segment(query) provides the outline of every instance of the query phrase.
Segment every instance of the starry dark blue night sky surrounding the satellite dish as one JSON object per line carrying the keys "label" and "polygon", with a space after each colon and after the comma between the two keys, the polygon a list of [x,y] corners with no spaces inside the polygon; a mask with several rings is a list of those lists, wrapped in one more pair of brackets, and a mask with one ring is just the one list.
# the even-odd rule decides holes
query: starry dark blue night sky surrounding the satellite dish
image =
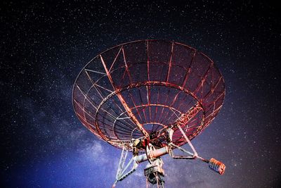
{"label": "starry dark blue night sky surrounding the satellite dish", "polygon": [[[137,39],[203,51],[226,82],[223,108],[192,140],[226,173],[164,156],[166,187],[278,187],[280,9],[270,1],[1,1],[1,187],[112,185],[121,151],[81,125],[72,85],[96,54]],[[145,187],[144,165],[117,187]]]}

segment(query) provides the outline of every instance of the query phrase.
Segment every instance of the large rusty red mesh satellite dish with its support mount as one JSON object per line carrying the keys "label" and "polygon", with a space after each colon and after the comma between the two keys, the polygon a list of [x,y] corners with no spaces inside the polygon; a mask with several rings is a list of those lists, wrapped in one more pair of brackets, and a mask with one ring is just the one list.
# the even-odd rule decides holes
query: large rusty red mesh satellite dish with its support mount
{"label": "large rusty red mesh satellite dish with its support mount", "polygon": [[[161,187],[160,156],[166,153],[200,158],[224,172],[223,163],[198,156],[190,140],[214,120],[225,93],[221,73],[202,52],[178,42],[141,40],[107,49],[86,64],[74,83],[73,105],[84,126],[122,149],[115,184],[149,161],[145,176]],[[181,147],[187,143],[193,152]],[[188,156],[174,156],[173,149]],[[133,168],[126,172],[128,151]]]}

